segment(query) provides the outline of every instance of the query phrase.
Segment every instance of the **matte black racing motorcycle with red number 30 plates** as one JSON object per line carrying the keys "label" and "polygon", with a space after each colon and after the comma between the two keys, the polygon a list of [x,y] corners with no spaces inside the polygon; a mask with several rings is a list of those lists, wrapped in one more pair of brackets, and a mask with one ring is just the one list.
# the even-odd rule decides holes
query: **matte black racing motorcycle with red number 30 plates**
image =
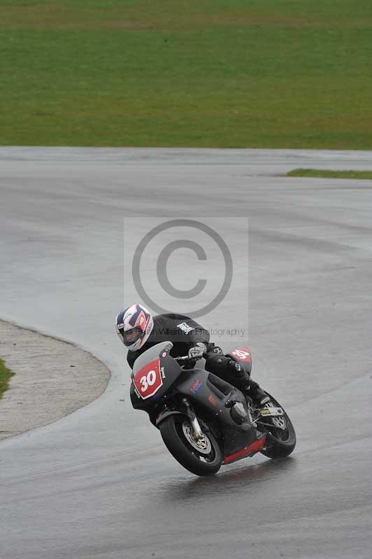
{"label": "matte black racing motorcycle with red number 30 plates", "polygon": [[[131,404],[148,413],[166,448],[186,470],[206,476],[257,452],[282,458],[294,450],[294,427],[273,396],[257,409],[235,386],[195,368],[194,357],[173,358],[172,347],[162,342],[136,359]],[[248,347],[236,347],[230,355],[250,373]]]}

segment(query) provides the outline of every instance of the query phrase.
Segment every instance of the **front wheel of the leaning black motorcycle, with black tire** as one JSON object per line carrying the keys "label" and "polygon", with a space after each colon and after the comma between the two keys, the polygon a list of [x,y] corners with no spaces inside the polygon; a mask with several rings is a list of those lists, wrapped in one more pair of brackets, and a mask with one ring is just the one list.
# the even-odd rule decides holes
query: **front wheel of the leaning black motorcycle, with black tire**
{"label": "front wheel of the leaning black motorcycle, with black tire", "polygon": [[202,440],[193,436],[189,418],[174,414],[166,417],[159,425],[166,448],[173,458],[196,476],[213,475],[222,465],[222,451],[212,433],[203,433]]}

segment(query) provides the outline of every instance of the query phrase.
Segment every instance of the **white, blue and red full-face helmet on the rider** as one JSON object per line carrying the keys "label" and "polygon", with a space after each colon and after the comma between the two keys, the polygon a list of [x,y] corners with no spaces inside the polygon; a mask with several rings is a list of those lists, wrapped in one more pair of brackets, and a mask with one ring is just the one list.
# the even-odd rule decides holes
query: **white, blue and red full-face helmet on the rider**
{"label": "white, blue and red full-face helmet on the rider", "polygon": [[140,349],[154,328],[150,311],[134,303],[122,310],[116,317],[116,332],[125,347],[131,351]]}

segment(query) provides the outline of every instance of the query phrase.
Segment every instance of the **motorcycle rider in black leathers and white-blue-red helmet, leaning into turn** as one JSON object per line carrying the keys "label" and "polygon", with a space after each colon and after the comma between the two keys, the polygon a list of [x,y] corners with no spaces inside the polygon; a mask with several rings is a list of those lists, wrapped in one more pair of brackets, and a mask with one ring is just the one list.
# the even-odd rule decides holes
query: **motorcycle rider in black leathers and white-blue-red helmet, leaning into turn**
{"label": "motorcycle rider in black leathers and white-blue-red helmet, leaning into turn", "polygon": [[196,359],[205,357],[206,370],[233,384],[245,395],[250,395],[255,405],[262,407],[270,400],[234,358],[224,356],[220,347],[209,343],[208,331],[185,314],[157,314],[152,317],[143,305],[135,303],[117,314],[116,331],[129,349],[127,361],[131,368],[146,349],[161,342],[172,342],[172,357],[186,354]]}

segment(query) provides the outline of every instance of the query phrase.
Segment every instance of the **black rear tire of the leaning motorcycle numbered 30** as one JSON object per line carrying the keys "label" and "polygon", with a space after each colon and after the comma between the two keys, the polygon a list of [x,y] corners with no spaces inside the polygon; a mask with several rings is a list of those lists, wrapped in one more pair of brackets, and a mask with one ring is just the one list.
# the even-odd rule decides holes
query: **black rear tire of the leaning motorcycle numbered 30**
{"label": "black rear tire of the leaning motorcycle numbered 30", "polygon": [[[289,456],[290,453],[294,451],[294,447],[296,447],[296,432],[294,430],[294,426],[292,425],[292,421],[287,416],[285,409],[280,405],[280,403],[270,395],[270,400],[275,407],[281,407],[284,416],[283,419],[285,420],[285,430],[282,430],[275,426],[273,423],[273,419],[271,418],[270,421],[273,423],[273,427],[269,428],[266,427],[266,430],[269,432],[266,440],[266,446],[261,451],[264,456],[268,458],[285,458],[285,456]],[[265,422],[268,419],[265,419]]]}

